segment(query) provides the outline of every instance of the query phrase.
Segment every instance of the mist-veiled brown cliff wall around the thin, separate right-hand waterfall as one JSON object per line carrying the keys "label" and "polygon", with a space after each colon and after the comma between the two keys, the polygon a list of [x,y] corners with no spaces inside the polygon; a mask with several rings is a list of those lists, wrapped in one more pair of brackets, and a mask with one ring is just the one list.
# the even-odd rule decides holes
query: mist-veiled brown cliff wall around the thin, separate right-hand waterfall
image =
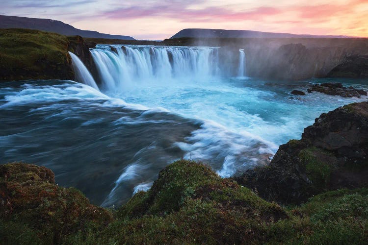
{"label": "mist-veiled brown cliff wall around the thin, separate right-hand waterfall", "polygon": [[221,47],[223,66],[235,74],[239,49],[246,74],[271,80],[311,77],[368,77],[366,38],[179,38],[166,45]]}

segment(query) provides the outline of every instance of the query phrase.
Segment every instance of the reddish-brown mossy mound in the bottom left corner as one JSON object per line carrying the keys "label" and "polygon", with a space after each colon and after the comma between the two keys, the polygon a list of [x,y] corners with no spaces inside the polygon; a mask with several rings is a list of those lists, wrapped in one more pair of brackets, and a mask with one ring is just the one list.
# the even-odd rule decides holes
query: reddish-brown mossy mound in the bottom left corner
{"label": "reddish-brown mossy mound in the bottom left corner", "polygon": [[0,226],[2,244],[59,243],[66,236],[98,229],[112,221],[110,212],[91,205],[74,188],[55,185],[54,174],[45,167],[12,163],[0,165]]}

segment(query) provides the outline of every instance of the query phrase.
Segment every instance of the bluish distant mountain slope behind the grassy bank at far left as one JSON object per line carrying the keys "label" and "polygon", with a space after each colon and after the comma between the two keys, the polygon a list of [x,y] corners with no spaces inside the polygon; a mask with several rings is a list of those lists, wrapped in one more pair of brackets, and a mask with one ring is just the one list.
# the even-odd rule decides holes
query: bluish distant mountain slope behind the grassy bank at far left
{"label": "bluish distant mountain slope behind the grassy bank at far left", "polygon": [[121,40],[135,40],[130,36],[122,35],[110,35],[100,33],[97,31],[80,30],[72,25],[65,24],[61,21],[50,19],[37,19],[18,16],[6,16],[0,15],[0,28],[26,28],[36,29],[49,32],[59,33],[66,36],[79,35],[87,38],[108,38],[108,39],[121,39]]}

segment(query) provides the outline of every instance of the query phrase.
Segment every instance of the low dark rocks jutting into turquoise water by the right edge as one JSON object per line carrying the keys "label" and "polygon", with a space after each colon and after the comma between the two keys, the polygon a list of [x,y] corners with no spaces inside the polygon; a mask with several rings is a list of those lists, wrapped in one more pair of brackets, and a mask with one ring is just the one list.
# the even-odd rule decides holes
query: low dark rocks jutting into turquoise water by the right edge
{"label": "low dark rocks jutting into turquoise water by the right edge", "polygon": [[367,92],[362,89],[355,89],[353,87],[343,87],[342,83],[322,83],[315,84],[308,88],[308,92],[319,92],[326,95],[338,95],[341,97],[357,97],[360,98],[362,95],[367,95]]}

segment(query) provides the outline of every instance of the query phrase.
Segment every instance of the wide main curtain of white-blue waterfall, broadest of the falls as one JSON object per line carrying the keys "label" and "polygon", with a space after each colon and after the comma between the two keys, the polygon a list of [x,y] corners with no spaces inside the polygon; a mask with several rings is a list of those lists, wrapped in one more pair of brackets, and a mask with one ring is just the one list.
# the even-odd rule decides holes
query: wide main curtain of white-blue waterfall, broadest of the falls
{"label": "wide main curtain of white-blue waterfall, broadest of the falls", "polygon": [[147,83],[196,82],[219,74],[218,48],[106,45],[91,49],[106,90]]}

